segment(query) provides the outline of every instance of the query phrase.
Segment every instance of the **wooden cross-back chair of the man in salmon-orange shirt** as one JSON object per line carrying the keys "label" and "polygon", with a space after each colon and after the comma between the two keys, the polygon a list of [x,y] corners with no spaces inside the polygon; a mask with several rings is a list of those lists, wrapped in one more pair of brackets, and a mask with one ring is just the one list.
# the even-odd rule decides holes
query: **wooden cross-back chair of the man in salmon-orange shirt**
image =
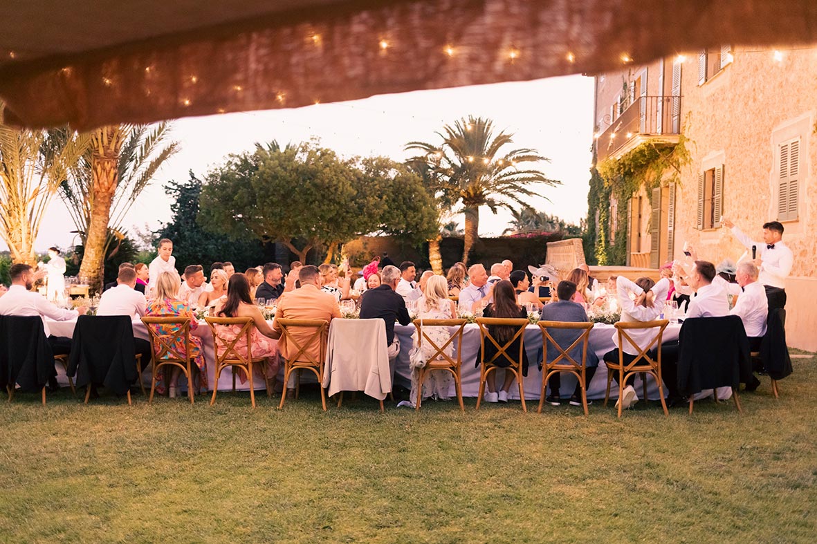
{"label": "wooden cross-back chair of the man in salmon-orange shirt", "polygon": [[[329,322],[326,319],[275,319],[281,327],[283,337],[287,340],[288,353],[295,352],[294,355],[285,359],[283,366],[283,388],[281,393],[281,404],[278,408],[283,408],[283,403],[287,398],[286,388],[289,382],[289,375],[293,370],[303,372],[304,369],[315,372],[318,377],[318,387],[320,389],[320,402],[324,406],[326,412],[326,391],[324,391],[324,365],[326,363],[326,345],[328,341]],[[312,329],[312,334],[306,341],[298,341],[296,337],[292,336],[292,329]],[[307,350],[313,346],[315,342],[319,346],[319,355],[314,359]],[[297,391],[296,391],[297,399]]]}

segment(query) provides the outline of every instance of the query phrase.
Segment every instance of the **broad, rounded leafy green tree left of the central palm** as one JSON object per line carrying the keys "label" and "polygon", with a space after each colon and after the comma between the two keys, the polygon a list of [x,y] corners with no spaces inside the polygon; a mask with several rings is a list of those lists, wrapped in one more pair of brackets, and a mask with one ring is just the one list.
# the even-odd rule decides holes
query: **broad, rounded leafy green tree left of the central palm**
{"label": "broad, rounded leafy green tree left of the central palm", "polygon": [[363,234],[422,235],[415,221],[425,216],[416,204],[385,215],[391,200],[425,194],[417,192],[422,187],[400,165],[373,158],[357,167],[356,160],[343,160],[313,143],[284,149],[273,144],[230,155],[208,174],[199,212],[205,228],[234,239],[249,233],[261,241],[279,241],[304,262],[319,245],[328,247],[331,260],[337,246]]}

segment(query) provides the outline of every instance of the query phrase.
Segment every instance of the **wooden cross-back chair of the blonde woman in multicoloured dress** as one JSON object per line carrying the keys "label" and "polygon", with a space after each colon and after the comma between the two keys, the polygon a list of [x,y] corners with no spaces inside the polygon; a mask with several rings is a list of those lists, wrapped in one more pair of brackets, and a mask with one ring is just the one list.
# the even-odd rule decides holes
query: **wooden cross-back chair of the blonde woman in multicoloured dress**
{"label": "wooden cross-back chair of the blonde woman in multicoloured dress", "polygon": [[[148,403],[153,402],[153,395],[158,381],[158,369],[162,367],[178,367],[187,377],[187,396],[190,397],[190,404],[194,403],[193,396],[193,368],[191,368],[190,354],[193,346],[190,343],[190,318],[179,316],[167,317],[143,317],[142,323],[148,329],[150,335],[150,398]],[[179,330],[172,334],[159,334],[151,325],[177,325]],[[181,338],[185,346],[185,353],[179,353],[172,346],[176,338]],[[157,353],[158,351],[158,353]],[[172,373],[172,372],[171,372]],[[167,386],[170,387],[170,376],[167,377]]]}

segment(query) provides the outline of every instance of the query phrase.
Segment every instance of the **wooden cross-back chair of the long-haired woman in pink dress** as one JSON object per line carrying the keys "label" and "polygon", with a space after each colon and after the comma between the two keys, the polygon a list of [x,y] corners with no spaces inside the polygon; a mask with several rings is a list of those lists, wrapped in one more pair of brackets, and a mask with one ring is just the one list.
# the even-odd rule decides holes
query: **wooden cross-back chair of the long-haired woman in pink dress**
{"label": "wooden cross-back chair of the long-haired woman in pink dress", "polygon": [[[272,390],[270,388],[270,378],[267,376],[270,361],[266,357],[252,356],[252,327],[254,326],[252,318],[220,318],[206,316],[204,320],[207,321],[208,325],[210,326],[210,330],[212,330],[212,339],[216,350],[216,381],[215,386],[212,388],[212,399],[210,399],[210,406],[216,404],[218,378],[221,377],[221,371],[227,367],[231,367],[233,369],[233,392],[235,392],[235,370],[236,368],[240,368],[244,372],[244,375],[247,377],[247,381],[249,382],[250,403],[252,404],[252,408],[255,408],[255,387],[252,385],[252,365],[256,363],[263,365],[266,396],[267,398],[270,398],[272,396]],[[221,327],[231,327],[233,325],[240,325],[241,330],[239,330],[239,333],[235,335],[232,340],[228,340],[219,335]],[[239,350],[235,349],[235,345],[242,338],[246,341],[246,356]],[[219,354],[219,349],[221,346],[224,347],[224,350],[223,353]]]}

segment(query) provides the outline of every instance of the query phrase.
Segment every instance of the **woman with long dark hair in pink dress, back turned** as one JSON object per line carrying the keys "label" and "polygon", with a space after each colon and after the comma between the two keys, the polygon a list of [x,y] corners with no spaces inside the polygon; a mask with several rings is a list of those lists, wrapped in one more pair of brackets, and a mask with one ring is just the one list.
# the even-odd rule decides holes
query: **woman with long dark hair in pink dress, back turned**
{"label": "woman with long dark hair in pink dress, back turned", "polygon": [[[254,269],[253,269],[254,270]],[[217,275],[221,272],[217,270]],[[226,275],[226,273],[224,274]],[[213,312],[217,317],[225,318],[250,318],[252,319],[252,328],[250,330],[250,341],[252,342],[252,357],[268,357],[270,359],[267,364],[267,377],[274,377],[278,374],[278,342],[274,339],[279,337],[270,324],[264,319],[261,310],[252,302],[250,297],[250,283],[247,276],[244,274],[233,274],[229,281],[229,288],[227,289],[227,296],[218,299],[216,303],[216,310]],[[241,331],[241,325],[216,325],[218,335],[227,342],[234,341]],[[218,342],[218,355],[224,354],[225,345]],[[233,346],[243,357],[248,357],[247,337],[241,336],[236,340]],[[260,367],[256,367],[260,371]],[[246,375],[239,372],[239,379],[241,383],[247,381]],[[259,374],[259,377],[262,377]]]}

